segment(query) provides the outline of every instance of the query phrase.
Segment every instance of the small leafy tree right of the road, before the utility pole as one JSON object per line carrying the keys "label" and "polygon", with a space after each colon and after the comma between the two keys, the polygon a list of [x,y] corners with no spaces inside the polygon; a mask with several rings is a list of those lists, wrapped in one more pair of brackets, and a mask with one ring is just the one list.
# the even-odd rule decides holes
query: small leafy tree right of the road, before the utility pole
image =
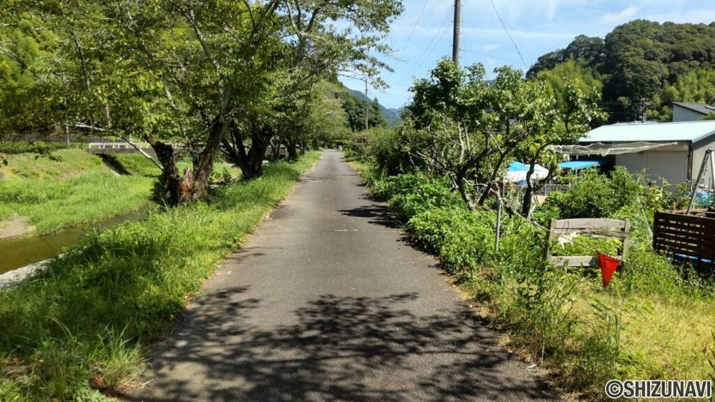
{"label": "small leafy tree right of the road, before the utility pole", "polygon": [[544,75],[523,79],[511,67],[495,69],[488,83],[484,67],[460,69],[441,60],[428,79],[410,89],[400,141],[423,167],[450,179],[470,209],[483,205],[491,187],[512,157],[530,162],[523,210],[531,209],[533,165],[546,159],[556,170],[549,145],[573,143],[601,117],[591,88],[576,80],[563,85],[561,107]]}

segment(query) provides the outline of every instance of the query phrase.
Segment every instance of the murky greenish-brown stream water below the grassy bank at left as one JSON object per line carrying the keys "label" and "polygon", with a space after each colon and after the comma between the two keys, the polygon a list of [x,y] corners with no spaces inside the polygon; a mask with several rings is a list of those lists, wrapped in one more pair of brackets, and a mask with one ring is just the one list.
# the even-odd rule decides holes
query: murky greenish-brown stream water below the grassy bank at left
{"label": "murky greenish-brown stream water below the grassy bank at left", "polygon": [[130,212],[126,215],[109,217],[102,222],[70,227],[44,236],[15,236],[0,239],[0,274],[39,263],[61,253],[64,247],[74,245],[80,236],[94,229],[117,225],[125,220],[134,220],[144,215],[146,210]]}

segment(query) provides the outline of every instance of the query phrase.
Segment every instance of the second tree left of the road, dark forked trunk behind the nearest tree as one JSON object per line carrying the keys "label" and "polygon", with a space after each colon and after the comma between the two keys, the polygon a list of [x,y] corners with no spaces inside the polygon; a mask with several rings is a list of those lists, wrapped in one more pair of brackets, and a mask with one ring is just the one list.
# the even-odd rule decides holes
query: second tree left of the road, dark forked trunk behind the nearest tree
{"label": "second tree left of the road, dark forked trunk behind the nearest tree", "polygon": [[[292,77],[290,85],[280,92],[282,102],[275,102],[270,114],[284,114],[287,109],[307,102],[312,85],[326,74],[338,71],[352,71],[363,74],[375,85],[380,85],[378,69],[389,67],[376,59],[372,53],[388,52],[383,44],[389,24],[402,10],[398,0],[350,0],[350,1],[287,1],[284,20],[290,42],[282,64],[276,67]],[[336,24],[347,25],[338,29]],[[358,28],[360,33],[355,33]],[[300,99],[300,100],[299,100]],[[256,113],[250,108],[242,109],[252,115],[256,123]],[[294,111],[293,115],[300,114]],[[266,118],[259,124],[235,125],[232,137],[225,141],[232,148],[232,155],[242,168],[244,177],[260,175],[262,159],[271,137],[277,135],[277,126]],[[243,142],[250,138],[247,149]],[[294,141],[285,136],[288,146]]]}

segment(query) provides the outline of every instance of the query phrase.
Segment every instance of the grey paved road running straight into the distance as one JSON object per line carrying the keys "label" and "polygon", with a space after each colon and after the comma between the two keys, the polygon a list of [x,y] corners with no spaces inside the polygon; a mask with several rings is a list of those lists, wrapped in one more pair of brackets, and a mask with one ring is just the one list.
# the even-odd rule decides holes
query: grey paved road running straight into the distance
{"label": "grey paved road running straight into the distance", "polygon": [[327,151],[177,320],[131,401],[554,399]]}

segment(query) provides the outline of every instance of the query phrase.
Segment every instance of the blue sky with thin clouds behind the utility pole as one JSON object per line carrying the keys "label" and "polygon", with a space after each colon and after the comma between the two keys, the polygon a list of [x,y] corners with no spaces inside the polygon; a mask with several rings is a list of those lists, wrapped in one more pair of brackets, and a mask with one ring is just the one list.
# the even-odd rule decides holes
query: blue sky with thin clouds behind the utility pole
{"label": "blue sky with thin clouds behind the utility pole", "polygon": [[[490,0],[462,1],[460,64],[481,62],[490,74],[505,64],[526,72],[539,56],[566,47],[574,36],[603,37],[615,26],[633,19],[706,24],[715,21],[715,4],[711,0],[493,0],[525,66]],[[413,77],[426,77],[438,59],[452,57],[454,1],[403,0],[403,4],[405,12],[395,20],[387,39],[394,54],[383,58],[395,70],[382,74],[390,87],[379,92],[370,88],[370,98],[378,97],[388,108],[399,108],[409,101]],[[365,90],[362,81],[340,80],[347,87]]]}

